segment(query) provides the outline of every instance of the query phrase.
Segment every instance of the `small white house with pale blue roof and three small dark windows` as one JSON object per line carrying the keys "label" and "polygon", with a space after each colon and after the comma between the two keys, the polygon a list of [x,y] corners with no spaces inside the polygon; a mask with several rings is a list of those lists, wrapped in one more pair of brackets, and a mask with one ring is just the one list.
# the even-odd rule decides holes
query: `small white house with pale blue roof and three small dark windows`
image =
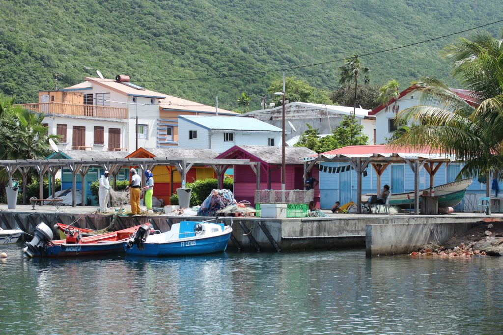
{"label": "small white house with pale blue roof and three small dark windows", "polygon": [[235,116],[178,117],[180,148],[212,149],[218,153],[234,145],[281,145],[281,128],[257,119]]}

